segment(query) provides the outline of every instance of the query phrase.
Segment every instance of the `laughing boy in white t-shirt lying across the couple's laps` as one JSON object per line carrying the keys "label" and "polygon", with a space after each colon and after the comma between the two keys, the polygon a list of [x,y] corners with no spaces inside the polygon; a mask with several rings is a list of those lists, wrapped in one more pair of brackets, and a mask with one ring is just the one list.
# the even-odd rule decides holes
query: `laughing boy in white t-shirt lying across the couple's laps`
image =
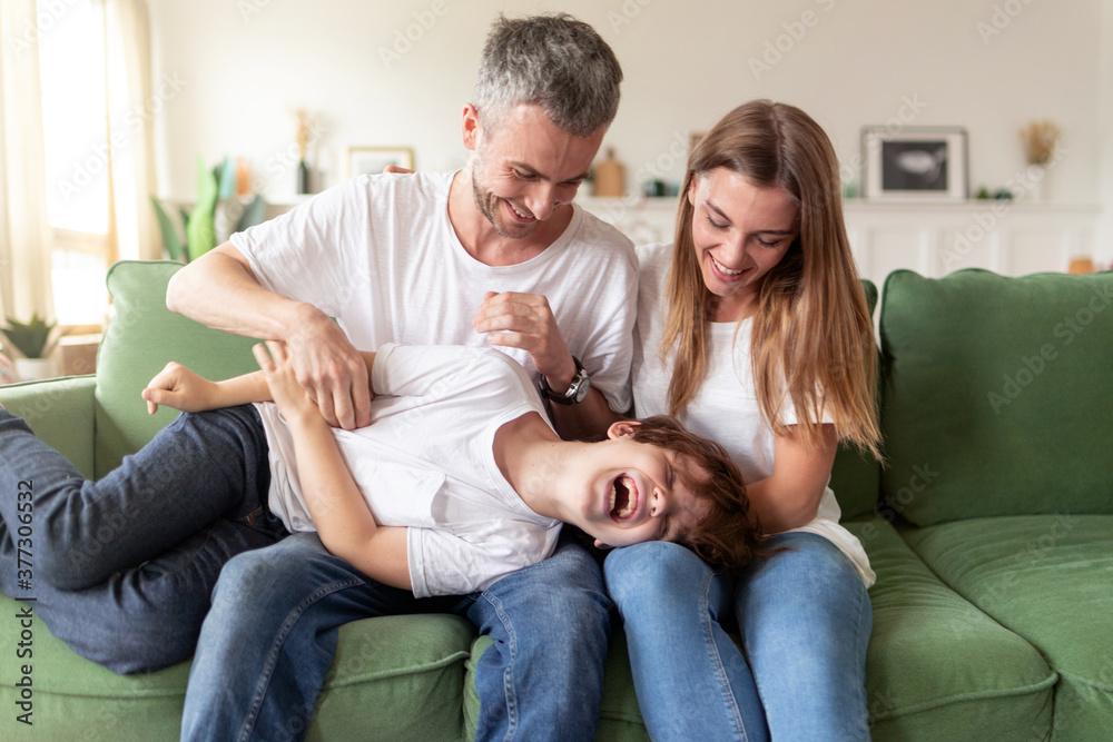
{"label": "laughing boy in white t-shirt lying across the couple's laps", "polygon": [[[267,348],[255,347],[260,372],[226,382],[167,366],[142,393],[149,410],[203,414],[180,416],[99,483],[76,477],[0,413],[4,475],[36,478],[40,580],[88,587],[213,518],[259,520],[263,493],[286,531],[316,530],[334,555],[418,597],[481,591],[545,558],[561,522],[601,547],[669,540],[720,565],[749,560],[757,527],[741,475],[671,418],[617,423],[598,443],[563,442],[508,356],[390,344],[364,354],[372,424],[343,431],[295,380],[284,346]],[[220,432],[206,433],[206,416],[221,416]],[[243,455],[228,463],[237,447]],[[188,465],[174,466],[179,453]],[[37,471],[12,472],[19,462]],[[72,558],[114,517],[130,525],[98,558]]]}

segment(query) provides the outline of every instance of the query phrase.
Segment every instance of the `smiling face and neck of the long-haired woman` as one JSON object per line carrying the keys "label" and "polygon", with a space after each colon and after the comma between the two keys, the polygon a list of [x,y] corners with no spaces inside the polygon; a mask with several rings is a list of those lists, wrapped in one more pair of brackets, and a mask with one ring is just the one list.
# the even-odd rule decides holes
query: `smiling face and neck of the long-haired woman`
{"label": "smiling face and neck of the long-haired woman", "polygon": [[757,281],[780,263],[800,234],[799,209],[785,190],[758,187],[727,168],[697,176],[692,239],[703,284],[718,301],[713,321],[754,314]]}

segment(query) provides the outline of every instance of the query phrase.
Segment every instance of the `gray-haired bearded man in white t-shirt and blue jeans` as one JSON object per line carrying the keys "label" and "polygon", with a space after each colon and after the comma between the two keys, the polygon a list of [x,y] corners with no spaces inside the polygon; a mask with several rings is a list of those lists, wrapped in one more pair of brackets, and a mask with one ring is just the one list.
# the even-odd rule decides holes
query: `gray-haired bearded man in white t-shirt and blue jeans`
{"label": "gray-haired bearded man in white t-shirt and blue jeans", "polygon": [[[570,201],[621,78],[585,23],[501,19],[463,111],[464,170],[338,186],[190,264],[167,305],[283,340],[333,425],[370,418],[357,348],[490,343],[535,376],[562,436],[601,433],[630,406],[637,265],[628,239]],[[476,667],[476,739],[594,738],[609,605],[595,562],[572,542],[460,596],[452,610],[494,640]],[[314,706],[336,627],[422,610],[433,607],[370,580],[314,534],[236,556],[201,629],[183,736],[296,736],[285,720]]]}

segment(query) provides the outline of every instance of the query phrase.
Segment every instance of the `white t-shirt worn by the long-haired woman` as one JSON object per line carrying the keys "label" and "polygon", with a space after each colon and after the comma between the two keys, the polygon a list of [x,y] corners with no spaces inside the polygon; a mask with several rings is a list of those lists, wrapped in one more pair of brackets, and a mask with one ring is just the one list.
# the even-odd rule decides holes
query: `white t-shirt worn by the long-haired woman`
{"label": "white t-shirt worn by the long-haired woman", "polygon": [[[649,245],[638,248],[641,281],[638,293],[638,327],[634,337],[633,397],[638,417],[663,415],[669,412],[669,382],[672,378],[674,352],[667,360],[660,356],[664,336],[666,280],[672,260],[671,245]],[[750,366],[750,329],[752,318],[738,323],[711,323],[708,337],[708,375],[696,397],[680,416],[693,433],[718,441],[738,464],[747,482],[757,482],[772,474],[776,436],[762,422],[754,374]],[[791,399],[780,409],[787,425],[797,422]],[[824,422],[830,422],[826,419]],[[858,568],[866,587],[875,575],[869,558],[857,538],[838,524],[838,502],[830,487],[824,491],[816,518],[799,528],[834,543]]]}

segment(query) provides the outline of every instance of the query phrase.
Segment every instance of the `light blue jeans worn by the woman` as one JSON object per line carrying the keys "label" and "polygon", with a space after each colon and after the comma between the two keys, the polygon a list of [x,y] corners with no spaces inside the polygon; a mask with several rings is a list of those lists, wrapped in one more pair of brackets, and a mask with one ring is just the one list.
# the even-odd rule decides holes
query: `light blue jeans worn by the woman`
{"label": "light blue jeans worn by the woman", "polygon": [[[737,586],[674,544],[608,555],[654,740],[869,739],[873,610],[861,578],[821,536],[785,533],[769,546],[792,551],[756,560]],[[745,659],[723,632],[731,609]]]}

